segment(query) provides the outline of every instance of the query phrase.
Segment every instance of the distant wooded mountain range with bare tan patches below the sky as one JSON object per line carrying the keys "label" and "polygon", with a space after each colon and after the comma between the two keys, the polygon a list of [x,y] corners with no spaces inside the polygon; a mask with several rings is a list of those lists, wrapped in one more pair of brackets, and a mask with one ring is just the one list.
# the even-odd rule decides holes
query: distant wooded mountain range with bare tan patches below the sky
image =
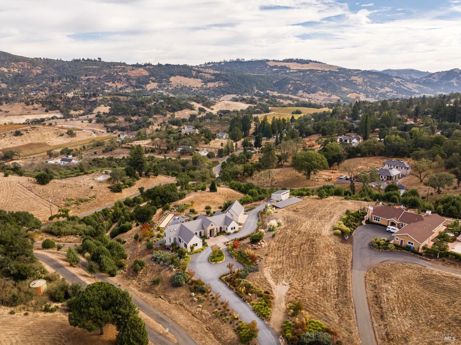
{"label": "distant wooded mountain range with bare tan patches below the sky", "polygon": [[[80,88],[176,95],[271,92],[319,102],[461,92],[461,71],[354,70],[319,61],[244,60],[186,64],[125,64],[95,58],[64,61],[0,52],[0,94],[67,92]],[[3,91],[2,91],[3,88]]]}

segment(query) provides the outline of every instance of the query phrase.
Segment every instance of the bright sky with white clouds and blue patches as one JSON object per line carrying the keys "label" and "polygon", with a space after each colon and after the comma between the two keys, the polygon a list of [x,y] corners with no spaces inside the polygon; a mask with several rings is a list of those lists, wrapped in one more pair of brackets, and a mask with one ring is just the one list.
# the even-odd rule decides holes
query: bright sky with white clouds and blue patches
{"label": "bright sky with white clouds and blue patches", "polygon": [[461,68],[461,0],[14,0],[0,23],[0,50],[27,57]]}

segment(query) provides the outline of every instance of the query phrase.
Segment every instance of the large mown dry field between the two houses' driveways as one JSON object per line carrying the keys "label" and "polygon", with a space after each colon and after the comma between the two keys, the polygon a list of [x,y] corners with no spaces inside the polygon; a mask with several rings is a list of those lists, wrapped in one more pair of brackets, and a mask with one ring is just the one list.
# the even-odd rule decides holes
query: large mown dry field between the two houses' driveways
{"label": "large mown dry field between the two houses' driveways", "polygon": [[312,197],[277,211],[271,217],[282,219],[284,225],[269,243],[261,272],[271,285],[280,286],[276,300],[288,285],[285,303],[300,298],[310,317],[336,330],[348,345],[360,343],[352,301],[352,241],[334,236],[332,226],[347,209],[365,204]]}

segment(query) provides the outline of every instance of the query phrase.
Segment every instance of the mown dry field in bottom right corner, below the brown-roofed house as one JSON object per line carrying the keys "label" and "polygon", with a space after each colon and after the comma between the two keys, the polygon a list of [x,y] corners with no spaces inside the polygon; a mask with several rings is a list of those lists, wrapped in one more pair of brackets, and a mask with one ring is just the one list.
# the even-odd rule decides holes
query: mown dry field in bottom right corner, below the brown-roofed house
{"label": "mown dry field in bottom right corner, below the brown-roofed house", "polygon": [[[378,344],[447,344],[436,332],[461,333],[461,278],[413,263],[381,263],[366,273]],[[416,293],[415,293],[416,288]],[[450,343],[450,342],[448,342]]]}

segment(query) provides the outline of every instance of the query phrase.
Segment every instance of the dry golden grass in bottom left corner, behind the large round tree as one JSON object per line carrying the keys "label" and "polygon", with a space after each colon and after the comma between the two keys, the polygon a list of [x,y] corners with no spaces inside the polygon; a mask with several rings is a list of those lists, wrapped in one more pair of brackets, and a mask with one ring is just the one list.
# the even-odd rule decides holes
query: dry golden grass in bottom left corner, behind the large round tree
{"label": "dry golden grass in bottom left corner, behind the large round tree", "polygon": [[114,326],[108,327],[106,333],[88,331],[72,327],[67,320],[67,313],[61,308],[54,313],[17,312],[10,315],[11,308],[0,307],[1,345],[115,345],[117,331]]}

